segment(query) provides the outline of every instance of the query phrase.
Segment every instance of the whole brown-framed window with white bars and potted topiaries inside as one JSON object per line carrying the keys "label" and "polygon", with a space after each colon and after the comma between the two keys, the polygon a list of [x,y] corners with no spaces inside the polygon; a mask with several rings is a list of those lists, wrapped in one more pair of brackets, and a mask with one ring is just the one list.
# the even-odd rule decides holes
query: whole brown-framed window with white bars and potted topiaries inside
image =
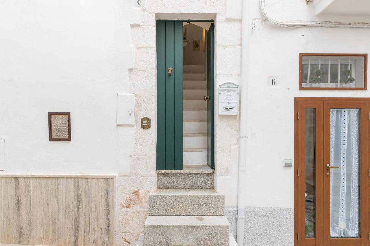
{"label": "whole brown-framed window with white bars and potted topiaries inside", "polygon": [[366,90],[367,54],[299,54],[300,90]]}

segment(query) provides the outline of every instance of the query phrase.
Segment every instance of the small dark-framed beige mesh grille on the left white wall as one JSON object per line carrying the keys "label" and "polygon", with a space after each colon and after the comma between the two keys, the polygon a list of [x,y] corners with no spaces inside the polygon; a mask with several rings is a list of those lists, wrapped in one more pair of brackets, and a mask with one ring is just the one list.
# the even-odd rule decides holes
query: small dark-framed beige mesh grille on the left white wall
{"label": "small dark-framed beige mesh grille on the left white wall", "polygon": [[71,141],[71,113],[48,112],[49,141]]}

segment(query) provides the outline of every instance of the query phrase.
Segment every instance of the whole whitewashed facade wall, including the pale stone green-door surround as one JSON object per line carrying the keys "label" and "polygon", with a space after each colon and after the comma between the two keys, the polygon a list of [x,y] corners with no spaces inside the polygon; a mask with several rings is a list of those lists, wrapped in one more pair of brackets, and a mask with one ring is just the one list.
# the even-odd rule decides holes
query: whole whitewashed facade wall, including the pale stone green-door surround
{"label": "whole whitewashed facade wall, including the pale stone green-door surround", "polygon": [[[0,174],[113,174],[117,243],[133,242],[155,189],[156,19],[215,19],[215,83],[240,84],[238,0],[4,0],[0,8]],[[266,0],[278,20],[314,17],[304,0]],[[194,14],[189,14],[194,13]],[[250,21],[261,18],[250,0]],[[260,20],[250,31],[246,206],[293,208],[294,97],[369,97],[368,91],[299,91],[299,53],[369,53],[369,29],[287,29]],[[190,44],[190,40],[189,40]],[[279,77],[279,88],[267,77]],[[135,127],[117,127],[116,93],[136,93]],[[236,206],[239,117],[218,115],[216,189]],[[47,112],[71,112],[71,142],[48,141]],[[139,119],[152,118],[143,130]],[[294,164],[294,163],[293,163]],[[126,240],[126,241],[125,241]],[[129,245],[129,243],[127,243]]]}

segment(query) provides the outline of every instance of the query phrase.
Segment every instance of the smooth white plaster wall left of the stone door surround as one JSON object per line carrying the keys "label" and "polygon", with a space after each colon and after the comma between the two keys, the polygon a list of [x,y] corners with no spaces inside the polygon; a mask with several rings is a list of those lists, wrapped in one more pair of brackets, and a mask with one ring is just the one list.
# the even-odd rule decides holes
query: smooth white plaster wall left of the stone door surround
{"label": "smooth white plaster wall left of the stone door surround", "polygon": [[[134,128],[115,127],[134,64],[128,4],[1,1],[0,173],[128,173]],[[48,141],[47,112],[71,112],[71,142]]]}

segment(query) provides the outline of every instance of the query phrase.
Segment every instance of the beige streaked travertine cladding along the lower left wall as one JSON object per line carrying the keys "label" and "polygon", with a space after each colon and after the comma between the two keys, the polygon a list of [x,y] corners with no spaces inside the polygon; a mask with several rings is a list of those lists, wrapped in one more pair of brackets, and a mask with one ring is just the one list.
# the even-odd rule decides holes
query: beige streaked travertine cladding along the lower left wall
{"label": "beige streaked travertine cladding along the lower left wall", "polygon": [[0,177],[0,243],[113,246],[114,179]]}

